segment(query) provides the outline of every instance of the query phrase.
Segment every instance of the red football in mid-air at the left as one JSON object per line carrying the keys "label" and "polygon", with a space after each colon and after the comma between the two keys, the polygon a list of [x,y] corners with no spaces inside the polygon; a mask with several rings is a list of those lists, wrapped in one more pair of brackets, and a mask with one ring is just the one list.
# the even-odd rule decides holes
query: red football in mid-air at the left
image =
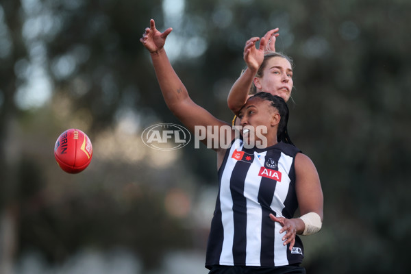
{"label": "red football in mid-air at the left", "polygon": [[67,129],[55,142],[54,157],[67,173],[84,171],[92,158],[90,139],[79,129]]}

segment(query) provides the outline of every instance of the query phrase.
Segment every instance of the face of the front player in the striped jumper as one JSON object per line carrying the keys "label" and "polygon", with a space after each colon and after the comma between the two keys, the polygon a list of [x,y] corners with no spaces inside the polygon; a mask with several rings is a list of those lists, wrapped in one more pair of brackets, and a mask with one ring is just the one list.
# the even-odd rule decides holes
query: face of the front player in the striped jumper
{"label": "face of the front player in the striped jumper", "polygon": [[[279,123],[279,113],[273,108],[271,102],[263,99],[249,99],[238,112],[240,125],[242,126],[242,136],[249,143],[265,141],[267,146],[277,143],[277,127]],[[247,127],[251,129],[247,131]],[[265,140],[262,140],[262,136]]]}

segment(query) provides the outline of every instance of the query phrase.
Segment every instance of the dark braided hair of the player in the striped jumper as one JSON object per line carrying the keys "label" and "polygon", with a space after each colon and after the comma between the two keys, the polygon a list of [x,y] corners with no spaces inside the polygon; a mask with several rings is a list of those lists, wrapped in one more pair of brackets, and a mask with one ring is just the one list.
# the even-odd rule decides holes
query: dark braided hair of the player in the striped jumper
{"label": "dark braided hair of the player in the striped jumper", "polygon": [[294,145],[291,142],[290,136],[288,136],[287,131],[287,124],[288,124],[288,105],[282,97],[277,95],[271,95],[268,92],[258,92],[256,95],[253,95],[249,99],[252,98],[260,98],[266,101],[270,101],[271,105],[276,108],[279,112],[279,116],[281,119],[279,120],[278,124],[278,131],[277,131],[277,141],[278,142],[285,142],[286,144]]}

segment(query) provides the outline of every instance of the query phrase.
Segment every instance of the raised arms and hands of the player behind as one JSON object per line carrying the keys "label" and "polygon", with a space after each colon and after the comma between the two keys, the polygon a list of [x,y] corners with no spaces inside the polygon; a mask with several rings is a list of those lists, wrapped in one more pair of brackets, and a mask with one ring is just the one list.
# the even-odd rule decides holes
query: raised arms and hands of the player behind
{"label": "raised arms and hands of the player behind", "polygon": [[[229,91],[227,98],[228,108],[238,114],[242,105],[248,99],[249,90],[253,84],[253,79],[256,76],[258,68],[264,60],[264,53],[268,51],[275,51],[275,40],[278,33],[278,28],[271,29],[264,37],[253,37],[249,39],[244,48],[244,60],[247,64],[247,69],[238,77],[237,81]],[[260,40],[260,47],[256,48],[256,42]]]}

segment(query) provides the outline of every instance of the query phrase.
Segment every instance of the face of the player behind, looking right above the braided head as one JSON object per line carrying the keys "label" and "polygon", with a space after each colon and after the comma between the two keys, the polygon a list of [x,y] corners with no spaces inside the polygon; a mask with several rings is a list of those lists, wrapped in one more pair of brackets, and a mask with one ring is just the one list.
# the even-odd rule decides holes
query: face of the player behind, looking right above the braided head
{"label": "face of the player behind, looking right above the braided head", "polygon": [[262,77],[255,77],[254,84],[258,92],[269,92],[272,95],[282,97],[284,101],[288,101],[293,84],[290,62],[279,56],[267,60]]}

